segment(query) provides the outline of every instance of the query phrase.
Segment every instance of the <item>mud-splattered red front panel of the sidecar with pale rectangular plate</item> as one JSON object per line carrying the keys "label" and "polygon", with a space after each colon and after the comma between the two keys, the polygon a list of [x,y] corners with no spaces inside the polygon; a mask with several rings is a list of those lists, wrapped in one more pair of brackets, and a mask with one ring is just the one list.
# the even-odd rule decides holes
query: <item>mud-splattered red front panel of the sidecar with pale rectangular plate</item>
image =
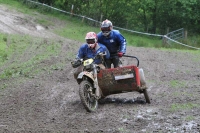
{"label": "mud-splattered red front panel of the sidecar with pale rectangular plate", "polygon": [[139,91],[139,69],[136,66],[124,66],[101,70],[98,73],[98,83],[103,96]]}

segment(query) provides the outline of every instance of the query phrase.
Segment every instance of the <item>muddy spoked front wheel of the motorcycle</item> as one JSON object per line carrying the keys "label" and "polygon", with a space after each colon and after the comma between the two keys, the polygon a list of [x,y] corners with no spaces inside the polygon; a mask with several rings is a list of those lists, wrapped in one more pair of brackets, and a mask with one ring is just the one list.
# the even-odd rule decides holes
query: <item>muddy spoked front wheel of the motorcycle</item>
{"label": "muddy spoked front wheel of the motorcycle", "polygon": [[[79,87],[79,95],[83,106],[88,112],[96,111],[98,107],[98,100],[91,95],[93,93],[93,86],[87,80],[82,81]],[[92,91],[92,92],[91,92]]]}

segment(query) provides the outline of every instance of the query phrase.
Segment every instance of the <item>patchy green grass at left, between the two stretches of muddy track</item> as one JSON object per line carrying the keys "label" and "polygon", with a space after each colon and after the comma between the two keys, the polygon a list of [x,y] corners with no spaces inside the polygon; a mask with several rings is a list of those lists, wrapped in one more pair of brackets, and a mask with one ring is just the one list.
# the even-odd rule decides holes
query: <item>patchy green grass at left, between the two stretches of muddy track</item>
{"label": "patchy green grass at left, between the two stretches of muddy track", "polygon": [[[4,68],[0,72],[0,79],[8,79],[11,77],[32,77],[40,74],[42,71],[55,69],[52,66],[47,66],[45,69],[39,67],[42,61],[51,60],[51,57],[56,57],[60,53],[61,44],[49,40],[46,42],[42,38],[33,38],[20,35],[3,35],[7,40],[7,47],[1,43],[0,48],[4,49],[6,59],[1,58],[1,66]],[[21,60],[23,59],[23,60]],[[6,64],[6,66],[4,66]],[[57,69],[64,65],[57,65]]]}

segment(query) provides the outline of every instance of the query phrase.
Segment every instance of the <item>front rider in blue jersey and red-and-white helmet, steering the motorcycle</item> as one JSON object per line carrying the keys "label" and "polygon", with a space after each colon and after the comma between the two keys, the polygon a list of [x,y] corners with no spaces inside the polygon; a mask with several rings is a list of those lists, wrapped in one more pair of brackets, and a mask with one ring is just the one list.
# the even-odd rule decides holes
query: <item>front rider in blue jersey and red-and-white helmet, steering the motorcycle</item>
{"label": "front rider in blue jersey and red-and-white helmet, steering the motorcycle", "polygon": [[[85,37],[86,43],[81,45],[76,59],[89,59],[95,57],[98,53],[104,53],[105,59],[110,58],[110,53],[108,49],[101,43],[97,42],[97,35],[94,32],[88,32]],[[105,66],[101,64],[100,59],[95,59],[94,62],[98,64],[102,69],[105,69]],[[77,79],[78,74],[82,71],[83,65],[79,66],[74,73],[74,78]]]}

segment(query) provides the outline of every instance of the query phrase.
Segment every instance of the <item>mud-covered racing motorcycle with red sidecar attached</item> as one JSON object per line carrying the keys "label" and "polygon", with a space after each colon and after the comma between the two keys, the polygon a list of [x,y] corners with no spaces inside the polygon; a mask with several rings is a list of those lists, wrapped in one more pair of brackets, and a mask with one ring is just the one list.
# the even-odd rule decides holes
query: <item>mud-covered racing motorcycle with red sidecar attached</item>
{"label": "mud-covered racing motorcycle with red sidecar attached", "polygon": [[[95,58],[101,58],[103,54]],[[94,63],[94,59],[71,62],[74,68],[83,65],[83,71],[78,75],[79,95],[81,102],[88,112],[96,111],[98,101],[112,94],[137,91],[143,93],[146,103],[150,103],[145,82],[144,72],[139,67],[139,60],[135,56],[124,55],[137,60],[137,65],[118,68],[101,69]],[[78,64],[78,65],[77,65]]]}

